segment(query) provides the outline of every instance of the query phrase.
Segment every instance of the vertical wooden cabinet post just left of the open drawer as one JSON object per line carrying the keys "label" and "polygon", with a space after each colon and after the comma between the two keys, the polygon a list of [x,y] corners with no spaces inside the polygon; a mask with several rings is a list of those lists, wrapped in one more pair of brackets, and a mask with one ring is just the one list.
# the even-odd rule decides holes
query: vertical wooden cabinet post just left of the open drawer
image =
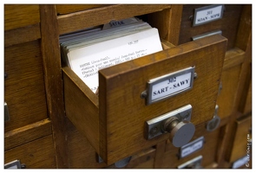
{"label": "vertical wooden cabinet post just left of the open drawer", "polygon": [[44,86],[52,121],[57,168],[67,168],[67,130],[62,93],[61,53],[55,5],[40,5]]}

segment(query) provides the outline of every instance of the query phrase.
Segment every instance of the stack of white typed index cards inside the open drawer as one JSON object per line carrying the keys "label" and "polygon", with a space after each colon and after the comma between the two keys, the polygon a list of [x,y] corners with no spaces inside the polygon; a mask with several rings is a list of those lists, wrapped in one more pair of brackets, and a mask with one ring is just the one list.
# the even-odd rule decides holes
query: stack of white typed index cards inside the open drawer
{"label": "stack of white typed index cards inside the open drawer", "polygon": [[98,71],[161,51],[158,30],[134,18],[60,37],[62,60],[95,93]]}

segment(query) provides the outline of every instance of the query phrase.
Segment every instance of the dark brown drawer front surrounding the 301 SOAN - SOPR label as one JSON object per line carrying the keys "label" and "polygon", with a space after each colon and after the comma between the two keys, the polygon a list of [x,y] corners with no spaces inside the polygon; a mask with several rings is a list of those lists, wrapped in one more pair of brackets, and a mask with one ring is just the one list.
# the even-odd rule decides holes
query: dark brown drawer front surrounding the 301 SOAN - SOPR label
{"label": "dark brown drawer front surrounding the 301 SOAN - SOPR label", "polygon": [[225,9],[221,19],[193,27],[194,10],[205,6],[207,5],[183,5],[179,44],[192,41],[192,37],[194,36],[203,35],[220,29],[222,31],[222,35],[228,40],[227,49],[234,48],[240,23],[242,5],[225,4]]}

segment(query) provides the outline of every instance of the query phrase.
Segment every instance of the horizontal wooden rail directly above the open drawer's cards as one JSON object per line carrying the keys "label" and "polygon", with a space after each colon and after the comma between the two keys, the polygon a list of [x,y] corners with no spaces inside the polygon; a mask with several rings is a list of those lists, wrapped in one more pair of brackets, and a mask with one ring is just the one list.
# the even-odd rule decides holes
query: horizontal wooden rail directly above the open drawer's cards
{"label": "horizontal wooden rail directly above the open drawer's cards", "polygon": [[134,5],[120,4],[84,10],[68,15],[58,16],[59,34],[74,32],[92,26],[101,25],[111,20],[121,20],[128,17],[140,16],[157,10],[170,8],[171,5]]}

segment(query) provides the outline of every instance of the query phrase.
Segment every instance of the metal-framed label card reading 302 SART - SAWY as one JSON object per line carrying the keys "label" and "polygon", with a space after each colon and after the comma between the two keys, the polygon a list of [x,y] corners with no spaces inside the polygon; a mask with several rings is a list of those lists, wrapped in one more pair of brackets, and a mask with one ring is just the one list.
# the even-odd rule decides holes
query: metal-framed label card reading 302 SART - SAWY
{"label": "metal-framed label card reading 302 SART - SAWY", "polygon": [[148,81],[147,101],[150,105],[162,99],[173,97],[193,87],[194,67],[187,67],[172,74]]}

